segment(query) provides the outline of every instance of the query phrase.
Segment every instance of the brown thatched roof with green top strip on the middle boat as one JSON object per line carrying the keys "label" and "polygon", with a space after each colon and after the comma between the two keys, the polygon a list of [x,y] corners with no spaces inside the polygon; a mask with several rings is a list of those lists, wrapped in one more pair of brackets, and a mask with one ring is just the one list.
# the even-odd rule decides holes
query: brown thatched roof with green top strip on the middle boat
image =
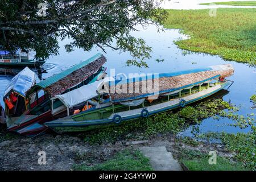
{"label": "brown thatched roof with green top strip on the middle boat", "polygon": [[80,64],[39,82],[32,90],[40,88],[45,90],[51,97],[56,96],[86,80],[97,72],[105,62],[106,58],[101,54],[97,54]]}

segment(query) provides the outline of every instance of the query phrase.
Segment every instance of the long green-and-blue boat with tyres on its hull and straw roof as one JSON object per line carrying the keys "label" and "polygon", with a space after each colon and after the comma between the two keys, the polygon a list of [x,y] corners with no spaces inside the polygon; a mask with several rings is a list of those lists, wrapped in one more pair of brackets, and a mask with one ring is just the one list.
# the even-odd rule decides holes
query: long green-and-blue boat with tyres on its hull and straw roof
{"label": "long green-and-blue boat with tyres on its hull and straw roof", "polygon": [[[53,97],[52,114],[55,115],[56,110],[65,107],[67,117],[46,122],[44,125],[63,133],[92,130],[100,126],[117,125],[130,119],[146,118],[152,114],[184,107],[217,93],[232,83],[225,80],[225,77],[233,75],[233,72],[232,65],[228,64],[162,73],[157,77],[110,77],[108,80],[94,82]],[[150,82],[154,89],[146,86]],[[135,85],[138,92],[135,92]],[[146,92],[142,92],[143,88],[147,88]],[[80,95],[79,99],[77,94]],[[59,101],[62,105],[55,107],[54,103]],[[84,107],[87,110],[82,111]]]}

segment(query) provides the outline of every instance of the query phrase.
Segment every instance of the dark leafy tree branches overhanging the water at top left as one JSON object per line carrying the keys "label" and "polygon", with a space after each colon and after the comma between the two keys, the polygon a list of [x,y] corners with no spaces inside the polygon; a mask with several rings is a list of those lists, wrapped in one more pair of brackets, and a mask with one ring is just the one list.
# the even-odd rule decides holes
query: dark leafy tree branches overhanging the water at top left
{"label": "dark leafy tree branches overhanging the water at top left", "polygon": [[71,38],[67,51],[111,47],[131,53],[134,59],[127,64],[146,66],[151,48],[130,32],[137,24],[158,26],[166,18],[155,0],[0,0],[0,4],[0,48],[31,48],[43,59],[58,54],[59,39]]}

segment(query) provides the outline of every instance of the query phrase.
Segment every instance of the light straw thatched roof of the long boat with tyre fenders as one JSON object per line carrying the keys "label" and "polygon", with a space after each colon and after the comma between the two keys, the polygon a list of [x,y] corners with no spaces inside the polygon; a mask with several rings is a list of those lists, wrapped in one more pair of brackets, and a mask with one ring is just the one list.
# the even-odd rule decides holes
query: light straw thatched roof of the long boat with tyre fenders
{"label": "light straw thatched roof of the long boat with tyre fenders", "polygon": [[[213,80],[218,77],[228,77],[233,75],[234,69],[231,65],[221,65],[222,68],[214,66],[209,71],[199,71],[186,74],[175,74],[168,77],[167,73],[161,74],[159,78],[152,80],[142,80],[137,82],[127,82],[125,84],[116,84],[109,86],[110,97],[112,102],[123,102],[138,98],[145,98],[154,95],[156,92],[167,93],[177,89],[196,85],[207,80]],[[225,67],[224,67],[225,66]],[[184,73],[184,72],[181,72]],[[149,86],[147,86],[147,84]],[[137,86],[137,87],[135,87]],[[129,88],[131,88],[129,90]],[[135,88],[139,88],[135,90]],[[113,93],[113,90],[115,92]]]}

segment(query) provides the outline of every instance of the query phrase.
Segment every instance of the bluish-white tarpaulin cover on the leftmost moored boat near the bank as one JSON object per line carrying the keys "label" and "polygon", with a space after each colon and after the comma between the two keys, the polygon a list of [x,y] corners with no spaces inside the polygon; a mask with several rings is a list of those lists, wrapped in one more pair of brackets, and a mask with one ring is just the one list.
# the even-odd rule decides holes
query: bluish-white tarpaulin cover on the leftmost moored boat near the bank
{"label": "bluish-white tarpaulin cover on the leftmost moored boat near the bank", "polygon": [[27,91],[35,84],[35,73],[32,72],[28,67],[24,68],[18,73],[10,83],[6,86],[5,94],[3,98],[7,97],[8,94],[14,90],[19,93],[20,96],[26,97]]}

